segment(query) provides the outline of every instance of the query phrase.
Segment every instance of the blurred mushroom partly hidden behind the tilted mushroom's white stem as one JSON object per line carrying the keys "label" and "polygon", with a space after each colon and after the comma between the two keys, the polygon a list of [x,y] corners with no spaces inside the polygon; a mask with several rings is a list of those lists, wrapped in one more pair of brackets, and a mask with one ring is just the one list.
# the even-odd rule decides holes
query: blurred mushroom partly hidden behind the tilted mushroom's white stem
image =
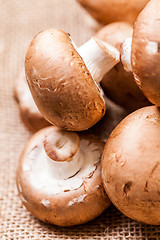
{"label": "blurred mushroom partly hidden behind the tilted mushroom's white stem", "polygon": [[[127,22],[111,23],[95,36],[112,44],[121,52],[122,43],[132,36],[132,26]],[[104,76],[101,86],[107,97],[128,111],[150,105],[135,83],[133,73],[126,71],[121,62]]]}

